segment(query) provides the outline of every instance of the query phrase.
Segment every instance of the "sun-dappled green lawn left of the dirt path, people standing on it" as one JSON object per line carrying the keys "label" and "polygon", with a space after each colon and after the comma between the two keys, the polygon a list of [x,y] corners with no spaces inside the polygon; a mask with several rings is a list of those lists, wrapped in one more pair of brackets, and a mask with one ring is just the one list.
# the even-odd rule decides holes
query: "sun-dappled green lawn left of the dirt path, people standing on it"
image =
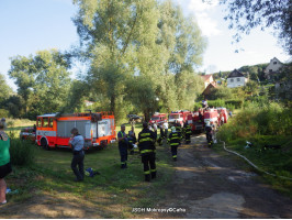
{"label": "sun-dappled green lawn left of the dirt path, people standing on it", "polygon": [[[136,135],[141,127],[136,124]],[[130,128],[126,124],[126,132]],[[119,127],[116,130],[120,130]],[[103,218],[133,218],[132,208],[153,207],[165,197],[165,186],[173,172],[166,146],[157,146],[158,178],[150,184],[145,183],[141,156],[128,155],[128,168],[121,169],[115,143],[104,150],[87,152],[85,168],[92,167],[101,175],[86,177],[85,182],[75,183],[70,168],[72,158],[70,150],[45,151],[33,145],[33,151],[35,163],[31,166],[14,166],[13,173],[7,177],[8,186],[12,190],[19,190],[19,194],[8,195],[12,205],[34,197],[50,196],[55,198],[52,202],[77,199],[80,204],[89,204],[104,210]],[[110,207],[114,206],[122,207],[122,212],[113,212]]]}

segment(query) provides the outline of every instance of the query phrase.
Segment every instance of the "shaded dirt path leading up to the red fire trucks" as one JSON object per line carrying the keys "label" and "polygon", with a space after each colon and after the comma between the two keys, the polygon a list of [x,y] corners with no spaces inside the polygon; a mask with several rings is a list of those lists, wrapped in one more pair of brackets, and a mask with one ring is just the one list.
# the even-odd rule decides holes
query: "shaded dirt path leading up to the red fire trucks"
{"label": "shaded dirt path leading up to the red fire trucks", "polygon": [[179,148],[169,195],[157,205],[180,212],[156,211],[153,218],[292,218],[291,199],[206,147],[204,135],[192,143]]}

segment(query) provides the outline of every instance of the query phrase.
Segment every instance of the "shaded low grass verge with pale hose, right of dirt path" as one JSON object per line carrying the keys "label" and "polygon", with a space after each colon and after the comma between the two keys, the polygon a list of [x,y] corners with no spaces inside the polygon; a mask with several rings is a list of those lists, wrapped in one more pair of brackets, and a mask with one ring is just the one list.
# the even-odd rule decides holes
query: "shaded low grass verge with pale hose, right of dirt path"
{"label": "shaded low grass verge with pale hose, right of dirt path", "polygon": [[[292,178],[292,136],[276,136],[276,135],[254,135],[249,139],[236,139],[228,141],[226,147],[231,151],[235,151],[246,158],[251,161],[261,170],[269,172],[279,176],[285,176]],[[245,147],[246,141],[252,143],[251,147]],[[281,145],[280,150],[266,148],[265,145]],[[222,144],[216,144],[215,150],[223,152]],[[225,151],[224,151],[224,154]],[[242,160],[238,157],[238,160]],[[244,166],[246,169],[256,170],[250,165]],[[278,189],[282,194],[292,198],[292,180],[283,179],[280,177],[273,177],[259,172],[262,175],[263,180],[270,184],[274,189]]]}

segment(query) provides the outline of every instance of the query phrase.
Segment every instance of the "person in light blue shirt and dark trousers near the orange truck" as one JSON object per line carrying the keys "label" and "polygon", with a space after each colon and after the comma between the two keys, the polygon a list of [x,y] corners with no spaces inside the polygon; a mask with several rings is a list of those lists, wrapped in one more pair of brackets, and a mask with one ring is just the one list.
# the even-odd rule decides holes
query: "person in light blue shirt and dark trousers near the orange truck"
{"label": "person in light blue shirt and dark trousers near the orange truck", "polygon": [[[74,128],[71,130],[71,139],[69,143],[72,146],[74,157],[71,161],[71,168],[74,174],[76,175],[76,182],[82,182],[85,178],[85,139],[81,134],[79,134],[78,129]],[[77,168],[78,166],[78,168]]]}

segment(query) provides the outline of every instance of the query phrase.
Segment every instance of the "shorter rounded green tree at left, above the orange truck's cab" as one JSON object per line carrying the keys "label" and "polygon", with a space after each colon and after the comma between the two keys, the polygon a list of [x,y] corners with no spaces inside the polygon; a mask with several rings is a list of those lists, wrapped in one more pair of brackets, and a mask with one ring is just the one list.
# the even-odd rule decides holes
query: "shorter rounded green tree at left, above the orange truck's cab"
{"label": "shorter rounded green tree at left, above the orange truck's cab", "polygon": [[9,75],[24,100],[25,117],[56,112],[66,103],[70,88],[68,68],[68,59],[57,50],[11,58]]}

